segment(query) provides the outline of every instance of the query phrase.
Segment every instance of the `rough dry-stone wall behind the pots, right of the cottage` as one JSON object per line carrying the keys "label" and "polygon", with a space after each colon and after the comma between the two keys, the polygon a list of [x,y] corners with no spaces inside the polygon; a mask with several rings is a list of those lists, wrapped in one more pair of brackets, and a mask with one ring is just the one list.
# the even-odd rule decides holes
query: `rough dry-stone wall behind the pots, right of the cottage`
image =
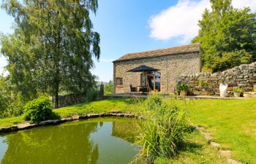
{"label": "rough dry-stone wall behind the pots, right of the cottage", "polygon": [[253,90],[253,85],[256,84],[256,62],[236,66],[233,69],[210,73],[199,74],[182,74],[181,82],[186,83],[191,87],[192,93],[199,95],[202,88],[199,86],[199,79],[207,82],[208,93],[218,95],[219,84],[225,82],[228,84],[228,90],[233,87],[241,87],[244,91]]}

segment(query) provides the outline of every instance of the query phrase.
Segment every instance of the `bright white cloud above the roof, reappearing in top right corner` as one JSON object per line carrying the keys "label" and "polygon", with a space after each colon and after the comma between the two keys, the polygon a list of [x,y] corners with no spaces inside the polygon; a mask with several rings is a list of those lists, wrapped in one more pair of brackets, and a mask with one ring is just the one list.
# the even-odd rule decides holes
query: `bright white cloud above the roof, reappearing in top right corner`
{"label": "bright white cloud above the roof, reappearing in top right corner", "polygon": [[[209,0],[178,0],[175,6],[151,17],[149,20],[150,36],[159,40],[181,37],[180,42],[187,43],[197,35],[199,30],[197,23],[201,19],[203,10],[210,7]],[[233,0],[233,7],[251,7],[255,12],[256,0]]]}

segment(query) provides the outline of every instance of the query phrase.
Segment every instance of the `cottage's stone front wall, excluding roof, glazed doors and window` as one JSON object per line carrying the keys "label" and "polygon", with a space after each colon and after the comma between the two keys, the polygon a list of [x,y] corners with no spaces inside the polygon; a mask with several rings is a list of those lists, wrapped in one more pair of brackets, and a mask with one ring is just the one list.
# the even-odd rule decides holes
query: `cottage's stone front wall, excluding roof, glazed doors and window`
{"label": "cottage's stone front wall, excluding roof, glazed doors and window", "polygon": [[[140,86],[141,72],[128,72],[128,70],[141,65],[160,69],[161,91],[162,93],[171,93],[175,89],[176,78],[181,74],[200,72],[200,55],[199,52],[192,52],[158,58],[116,61],[113,63],[114,93],[130,93],[130,85]],[[123,85],[116,85],[118,77],[123,79]]]}

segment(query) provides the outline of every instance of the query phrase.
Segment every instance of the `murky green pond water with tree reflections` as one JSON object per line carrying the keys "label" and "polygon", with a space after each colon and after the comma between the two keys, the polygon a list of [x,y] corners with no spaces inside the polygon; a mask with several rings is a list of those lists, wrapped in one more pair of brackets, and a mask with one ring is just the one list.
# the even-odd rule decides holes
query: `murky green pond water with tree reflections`
{"label": "murky green pond water with tree reflections", "polygon": [[137,121],[97,118],[0,136],[1,164],[122,164],[139,151]]}

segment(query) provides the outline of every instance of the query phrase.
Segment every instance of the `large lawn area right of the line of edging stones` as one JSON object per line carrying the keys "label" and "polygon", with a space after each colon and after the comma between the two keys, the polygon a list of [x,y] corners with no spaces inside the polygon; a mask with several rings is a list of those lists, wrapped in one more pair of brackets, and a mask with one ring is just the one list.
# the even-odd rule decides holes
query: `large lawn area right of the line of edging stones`
{"label": "large lawn area right of the line of edging stones", "polygon": [[187,104],[189,119],[210,132],[222,149],[243,163],[256,163],[256,98],[195,100]]}

